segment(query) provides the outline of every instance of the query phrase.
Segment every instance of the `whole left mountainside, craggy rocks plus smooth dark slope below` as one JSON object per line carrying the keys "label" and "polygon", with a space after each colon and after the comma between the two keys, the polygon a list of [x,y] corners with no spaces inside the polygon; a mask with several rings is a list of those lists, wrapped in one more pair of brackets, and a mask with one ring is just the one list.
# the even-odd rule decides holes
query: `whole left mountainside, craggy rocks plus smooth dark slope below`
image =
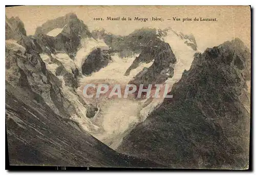
{"label": "whole left mountainside, craggy rocks plus smooth dark slope below", "polygon": [[[13,19],[18,25],[12,26]],[[44,49],[26,36],[22,21],[13,19],[6,21],[6,130],[11,165],[163,167],[113,151],[71,120],[75,107],[40,58]]]}

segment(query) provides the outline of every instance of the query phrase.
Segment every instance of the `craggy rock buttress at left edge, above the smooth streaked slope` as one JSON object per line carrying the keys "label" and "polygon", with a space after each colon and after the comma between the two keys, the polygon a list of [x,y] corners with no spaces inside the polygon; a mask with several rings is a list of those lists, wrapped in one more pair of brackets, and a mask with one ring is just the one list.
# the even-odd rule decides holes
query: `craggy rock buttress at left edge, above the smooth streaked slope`
{"label": "craggy rock buttress at left edge, above the smooth streaked slope", "polygon": [[56,114],[70,117],[75,109],[61,92],[61,82],[46,69],[36,51],[30,49],[30,53],[13,40],[6,41],[6,81],[33,94],[37,103],[46,101]]}

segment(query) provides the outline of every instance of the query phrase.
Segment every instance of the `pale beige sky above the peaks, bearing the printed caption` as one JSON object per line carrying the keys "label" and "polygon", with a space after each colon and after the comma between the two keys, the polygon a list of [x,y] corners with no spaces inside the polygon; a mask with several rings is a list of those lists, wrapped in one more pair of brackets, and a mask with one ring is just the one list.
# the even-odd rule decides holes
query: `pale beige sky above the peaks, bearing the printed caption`
{"label": "pale beige sky above the peaks, bearing the printed caption", "polygon": [[[117,35],[128,35],[142,27],[172,28],[184,34],[193,34],[202,51],[217,46],[227,40],[240,38],[250,48],[251,14],[249,6],[18,6],[6,8],[6,16],[18,16],[25,25],[27,35],[49,19],[75,13],[92,31],[104,28]],[[111,21],[106,17],[131,17],[131,21]],[[95,17],[103,21],[93,20]],[[135,21],[134,18],[148,18],[148,21]],[[152,17],[163,21],[150,21]],[[173,20],[181,18],[181,21]],[[217,18],[218,21],[194,21],[197,17]],[[182,21],[192,18],[192,21]],[[170,20],[167,20],[170,19]]]}

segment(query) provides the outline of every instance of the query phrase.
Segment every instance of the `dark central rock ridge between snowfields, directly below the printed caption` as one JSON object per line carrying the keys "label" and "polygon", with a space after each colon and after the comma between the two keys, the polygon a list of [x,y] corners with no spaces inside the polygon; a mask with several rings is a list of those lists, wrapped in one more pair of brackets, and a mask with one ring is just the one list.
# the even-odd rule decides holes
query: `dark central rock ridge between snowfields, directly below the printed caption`
{"label": "dark central rock ridge between snowfields, directly below the printed caption", "polygon": [[[150,63],[154,60],[152,66],[144,68],[129,82],[129,84],[144,84],[146,86],[147,84],[162,84],[168,78],[173,77],[174,64],[177,60],[169,44],[159,38],[166,35],[166,32],[166,30],[142,28],[123,37],[115,36],[105,30],[93,31],[92,35],[95,38],[103,39],[111,48],[110,52],[120,52],[121,57],[140,53],[139,57],[136,57],[126,70],[125,76],[128,76],[130,71],[137,68],[140,63]],[[184,37],[183,34],[178,36]],[[185,36],[186,39],[189,38],[189,36]],[[196,43],[195,38],[193,42]],[[122,55],[122,53],[125,54]],[[89,64],[84,63],[84,65],[89,67]]]}

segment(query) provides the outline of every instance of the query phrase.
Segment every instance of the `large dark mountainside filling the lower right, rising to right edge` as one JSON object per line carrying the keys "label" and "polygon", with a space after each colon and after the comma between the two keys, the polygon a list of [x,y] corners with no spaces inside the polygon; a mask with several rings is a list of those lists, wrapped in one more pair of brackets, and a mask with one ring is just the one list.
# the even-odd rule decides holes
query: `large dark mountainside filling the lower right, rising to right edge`
{"label": "large dark mountainside filling the lower right, rising to right edge", "polygon": [[196,54],[163,104],[119,153],[173,168],[248,168],[250,52],[240,39]]}

